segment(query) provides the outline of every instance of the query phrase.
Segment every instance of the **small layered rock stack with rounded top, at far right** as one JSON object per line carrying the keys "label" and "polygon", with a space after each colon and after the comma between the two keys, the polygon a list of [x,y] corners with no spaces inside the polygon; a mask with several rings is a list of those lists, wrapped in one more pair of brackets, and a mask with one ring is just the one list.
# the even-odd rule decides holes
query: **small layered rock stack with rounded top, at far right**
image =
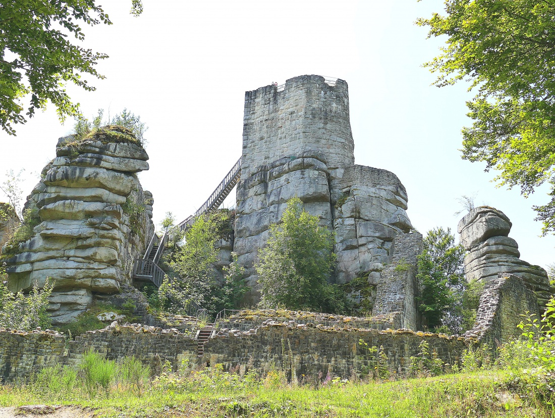
{"label": "small layered rock stack with rounded top, at far right", "polygon": [[546,271],[521,260],[518,244],[509,238],[512,223],[503,212],[488,206],[472,209],[458,223],[465,256],[467,281],[477,279],[486,284],[499,274],[513,274],[536,293],[539,305],[551,297]]}

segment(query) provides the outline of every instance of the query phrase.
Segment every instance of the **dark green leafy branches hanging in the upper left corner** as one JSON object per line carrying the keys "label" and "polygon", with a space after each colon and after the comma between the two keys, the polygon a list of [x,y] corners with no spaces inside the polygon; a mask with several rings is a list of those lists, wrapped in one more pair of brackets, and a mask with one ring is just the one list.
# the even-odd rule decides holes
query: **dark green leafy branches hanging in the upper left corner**
{"label": "dark green leafy branches hanging in the upper left corner", "polygon": [[[66,93],[68,82],[95,90],[83,75],[98,79],[95,65],[108,55],[70,42],[83,42],[81,24],[112,24],[95,0],[8,0],[0,3],[0,126],[10,135],[12,124],[25,123],[23,97],[30,95],[26,115],[46,107],[50,100],[60,120],[79,115],[79,104]],[[143,11],[132,0],[131,13]]]}

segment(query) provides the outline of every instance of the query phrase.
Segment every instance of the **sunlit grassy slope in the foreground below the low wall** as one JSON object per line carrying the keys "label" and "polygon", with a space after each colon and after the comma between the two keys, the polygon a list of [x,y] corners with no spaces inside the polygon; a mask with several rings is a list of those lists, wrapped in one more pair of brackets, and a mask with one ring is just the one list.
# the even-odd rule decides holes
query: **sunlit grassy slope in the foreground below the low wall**
{"label": "sunlit grassy slope in the foreground below the low wall", "polygon": [[[0,405],[63,404],[92,408],[99,417],[550,417],[551,407],[511,389],[501,371],[385,383],[271,385],[220,381],[176,388],[152,384],[140,397],[114,391],[109,397],[70,391],[48,395],[0,387]],[[218,383],[218,382],[214,382]],[[215,387],[211,387],[215,386]],[[41,392],[41,393],[38,393]]]}

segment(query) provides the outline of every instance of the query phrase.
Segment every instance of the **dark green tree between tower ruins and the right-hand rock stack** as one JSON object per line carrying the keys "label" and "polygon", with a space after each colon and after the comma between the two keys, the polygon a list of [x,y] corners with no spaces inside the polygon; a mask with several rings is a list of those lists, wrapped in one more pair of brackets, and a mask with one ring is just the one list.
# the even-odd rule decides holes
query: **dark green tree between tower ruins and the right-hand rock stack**
{"label": "dark green tree between tower ruins and the right-hand rock stack", "polygon": [[424,324],[431,329],[442,325],[455,328],[460,324],[462,292],[465,283],[463,258],[465,249],[455,245],[451,229],[441,227],[428,231],[423,251],[418,256],[417,278],[421,294],[418,309]]}

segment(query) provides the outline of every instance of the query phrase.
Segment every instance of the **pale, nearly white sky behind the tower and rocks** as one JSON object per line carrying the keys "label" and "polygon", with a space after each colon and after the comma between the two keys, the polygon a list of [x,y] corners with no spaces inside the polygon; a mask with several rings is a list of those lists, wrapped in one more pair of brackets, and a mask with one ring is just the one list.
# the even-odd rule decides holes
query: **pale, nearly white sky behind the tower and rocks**
{"label": "pale, nearly white sky behind the tower and rocks", "polygon": [[[98,65],[107,79],[85,77],[94,92],[68,91],[89,118],[99,108],[114,115],[127,107],[149,126],[150,170],[140,180],[154,195],[155,223],[166,211],[178,222],[193,213],[239,158],[246,90],[319,74],[349,84],[355,162],[399,177],[418,231],[456,233],[457,198],[476,193],[476,205],[511,218],[522,259],[555,262],[555,236],[539,237],[531,209],[548,202],[547,187],[524,199],[517,189],[496,188],[495,172],[483,172],[483,164],[461,159],[472,94],[463,84],[430,85],[436,76],[421,64],[443,41],[426,39],[414,24],[442,12],[442,1],[144,0],[138,18],[129,14],[131,0],[102,4],[114,24],[85,28],[85,45],[110,56]],[[16,137],[2,131],[0,181],[6,170],[25,169],[30,193],[72,127],[51,106],[16,125]]]}

